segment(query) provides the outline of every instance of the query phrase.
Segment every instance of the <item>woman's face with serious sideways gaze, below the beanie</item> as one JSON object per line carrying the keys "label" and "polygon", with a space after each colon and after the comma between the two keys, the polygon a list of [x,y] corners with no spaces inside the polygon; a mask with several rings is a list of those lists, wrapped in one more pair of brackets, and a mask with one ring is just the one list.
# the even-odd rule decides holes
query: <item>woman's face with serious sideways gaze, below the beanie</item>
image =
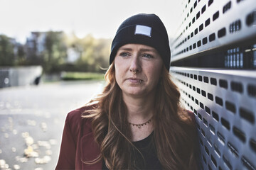
{"label": "woman's face with serious sideways gaze, below the beanie", "polygon": [[154,93],[164,64],[154,47],[123,45],[114,58],[115,77],[123,95],[146,97]]}

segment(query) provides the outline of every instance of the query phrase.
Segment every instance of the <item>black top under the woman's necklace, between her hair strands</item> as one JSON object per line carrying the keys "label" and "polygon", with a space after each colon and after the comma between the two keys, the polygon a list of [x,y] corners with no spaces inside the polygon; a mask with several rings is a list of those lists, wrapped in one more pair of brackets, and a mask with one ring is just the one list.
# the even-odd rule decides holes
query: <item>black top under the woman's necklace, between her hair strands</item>
{"label": "black top under the woman's necklace, between her hair strands", "polygon": [[[161,169],[161,164],[159,159],[156,156],[156,149],[153,144],[153,132],[143,140],[139,140],[137,142],[132,142],[137,149],[142,153],[139,154],[137,149],[134,149],[134,160],[135,160],[135,169]],[[107,166],[105,162],[102,164],[102,169],[107,170]]]}

